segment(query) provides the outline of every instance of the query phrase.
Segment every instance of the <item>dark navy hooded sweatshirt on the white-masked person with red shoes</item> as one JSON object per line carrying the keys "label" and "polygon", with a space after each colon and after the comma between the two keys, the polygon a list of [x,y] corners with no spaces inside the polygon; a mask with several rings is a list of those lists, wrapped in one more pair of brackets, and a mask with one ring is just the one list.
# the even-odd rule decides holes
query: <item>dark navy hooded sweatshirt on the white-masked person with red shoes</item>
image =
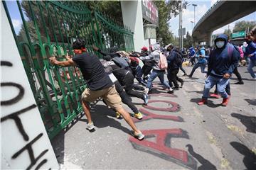
{"label": "dark navy hooded sweatshirt on the white-masked person with red shoes", "polygon": [[[224,74],[232,74],[235,67],[238,67],[238,61],[240,58],[240,52],[237,47],[228,43],[228,36],[225,34],[219,35],[214,43],[218,40],[224,40],[225,45],[221,48],[216,47],[212,52],[210,52],[209,62],[208,62],[208,75],[214,77],[223,77]],[[228,46],[233,48],[232,54],[228,55]]]}

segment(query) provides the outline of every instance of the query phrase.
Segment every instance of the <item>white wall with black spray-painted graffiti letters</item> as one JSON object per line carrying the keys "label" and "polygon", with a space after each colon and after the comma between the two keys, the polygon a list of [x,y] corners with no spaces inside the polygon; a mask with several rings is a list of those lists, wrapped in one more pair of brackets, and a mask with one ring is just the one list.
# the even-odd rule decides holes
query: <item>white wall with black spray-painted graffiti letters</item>
{"label": "white wall with black spray-painted graffiti letters", "polygon": [[1,3],[1,169],[58,169]]}

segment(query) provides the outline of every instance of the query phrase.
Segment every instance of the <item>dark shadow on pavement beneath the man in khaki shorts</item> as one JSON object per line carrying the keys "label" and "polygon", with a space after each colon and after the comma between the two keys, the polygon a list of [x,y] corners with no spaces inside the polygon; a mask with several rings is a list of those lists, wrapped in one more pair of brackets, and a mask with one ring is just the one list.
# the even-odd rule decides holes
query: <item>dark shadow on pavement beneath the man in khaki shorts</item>
{"label": "dark shadow on pavement beneath the man in khaki shorts", "polygon": [[[95,105],[91,107],[91,115],[94,125],[97,128],[106,128],[108,126],[112,128],[117,128],[119,130],[122,130],[123,132],[127,134],[131,134],[131,130],[128,128],[125,128],[124,126],[119,123],[117,118],[115,118],[115,113],[111,109],[107,108],[107,106],[104,105]],[[112,118],[110,118],[110,117]],[[80,118],[79,121],[83,121],[87,123],[87,119]]]}

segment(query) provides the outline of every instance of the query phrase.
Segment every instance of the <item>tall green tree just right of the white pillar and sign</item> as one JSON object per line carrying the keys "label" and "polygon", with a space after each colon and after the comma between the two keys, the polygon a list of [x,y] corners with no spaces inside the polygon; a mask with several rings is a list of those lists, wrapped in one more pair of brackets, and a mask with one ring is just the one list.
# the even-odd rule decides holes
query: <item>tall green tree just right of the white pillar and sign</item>
{"label": "tall green tree just right of the white pillar and sign", "polygon": [[168,21],[173,16],[178,15],[178,6],[180,6],[180,1],[154,1],[159,12],[159,26],[156,28],[156,37],[161,38],[164,45],[174,42],[174,37],[169,30]]}

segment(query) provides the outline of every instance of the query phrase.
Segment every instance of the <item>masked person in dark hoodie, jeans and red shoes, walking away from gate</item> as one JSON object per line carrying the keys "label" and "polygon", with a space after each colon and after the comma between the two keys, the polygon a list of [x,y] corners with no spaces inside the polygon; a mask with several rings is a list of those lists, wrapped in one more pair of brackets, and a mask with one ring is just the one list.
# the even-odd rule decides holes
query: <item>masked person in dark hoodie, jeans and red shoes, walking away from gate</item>
{"label": "masked person in dark hoodie, jeans and red shoes, walking away from gate", "polygon": [[234,45],[228,43],[228,36],[225,34],[218,35],[214,42],[216,48],[210,52],[203,98],[198,105],[207,103],[210,89],[217,84],[218,92],[223,97],[221,105],[228,106],[228,94],[225,88],[235,67],[238,67],[240,52]]}

